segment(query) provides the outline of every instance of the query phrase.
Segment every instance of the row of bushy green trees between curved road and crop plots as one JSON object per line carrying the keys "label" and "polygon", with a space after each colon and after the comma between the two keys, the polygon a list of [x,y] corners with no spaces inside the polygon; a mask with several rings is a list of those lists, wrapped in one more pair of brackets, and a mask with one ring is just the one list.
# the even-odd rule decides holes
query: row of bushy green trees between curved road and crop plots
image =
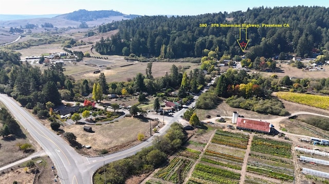
{"label": "row of bushy green trees between curved road and crop plots", "polygon": [[[93,183],[124,183],[133,175],[145,174],[160,167],[172,155],[179,150],[186,140],[184,128],[174,122],[166,135],[155,137],[153,146],[144,148],[135,155],[112,163],[99,170],[93,176]],[[105,173],[104,173],[105,172]],[[104,181],[104,174],[106,175]]]}

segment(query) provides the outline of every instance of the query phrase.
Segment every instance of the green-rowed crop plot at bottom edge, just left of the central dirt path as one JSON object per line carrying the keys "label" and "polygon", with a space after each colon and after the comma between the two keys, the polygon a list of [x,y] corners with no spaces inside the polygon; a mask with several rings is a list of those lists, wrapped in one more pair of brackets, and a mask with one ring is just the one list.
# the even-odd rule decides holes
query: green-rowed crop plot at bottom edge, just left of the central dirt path
{"label": "green-rowed crop plot at bottom edge, just left of the central dirt path", "polygon": [[198,163],[192,173],[188,184],[194,183],[222,183],[222,184],[237,184],[240,182],[240,174],[232,171],[227,171],[220,168]]}

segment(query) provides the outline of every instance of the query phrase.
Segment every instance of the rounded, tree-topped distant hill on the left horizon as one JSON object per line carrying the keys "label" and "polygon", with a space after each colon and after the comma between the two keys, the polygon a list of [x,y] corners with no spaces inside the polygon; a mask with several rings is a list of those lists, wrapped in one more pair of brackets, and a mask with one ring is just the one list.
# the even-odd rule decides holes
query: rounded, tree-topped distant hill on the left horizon
{"label": "rounded, tree-topped distant hill on the left horizon", "polygon": [[139,15],[125,15],[123,13],[113,10],[99,10],[99,11],[78,10],[72,13],[58,15],[56,17],[65,18],[70,21],[87,22],[87,21],[95,21],[96,19],[99,18],[107,18],[111,16],[123,16],[125,18],[135,18]]}

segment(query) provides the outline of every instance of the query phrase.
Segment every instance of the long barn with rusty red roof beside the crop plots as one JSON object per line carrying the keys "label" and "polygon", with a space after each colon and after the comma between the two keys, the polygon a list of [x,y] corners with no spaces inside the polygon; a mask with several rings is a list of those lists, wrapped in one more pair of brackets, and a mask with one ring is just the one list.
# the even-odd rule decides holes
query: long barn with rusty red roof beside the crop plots
{"label": "long barn with rusty red roof beside the crop plots", "polygon": [[249,131],[261,132],[261,133],[271,132],[271,124],[269,122],[245,119],[241,117],[237,118],[236,128],[241,130],[249,130]]}

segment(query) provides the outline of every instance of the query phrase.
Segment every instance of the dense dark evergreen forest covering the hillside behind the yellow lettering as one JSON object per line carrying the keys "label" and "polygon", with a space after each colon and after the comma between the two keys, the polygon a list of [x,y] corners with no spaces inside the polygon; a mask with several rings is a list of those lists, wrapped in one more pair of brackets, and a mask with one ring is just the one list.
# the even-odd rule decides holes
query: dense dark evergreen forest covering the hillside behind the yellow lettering
{"label": "dense dark evergreen forest covering the hillside behind the yellow lettering", "polygon": [[[217,55],[243,55],[236,39],[239,28],[211,27],[211,24],[289,24],[289,27],[248,28],[246,56],[266,58],[283,53],[312,57],[329,49],[329,8],[253,8],[246,12],[219,12],[196,16],[142,16],[101,25],[99,32],[118,29],[111,38],[101,38],[95,49],[101,54],[202,57],[203,50]],[[207,24],[207,27],[199,27]]]}

